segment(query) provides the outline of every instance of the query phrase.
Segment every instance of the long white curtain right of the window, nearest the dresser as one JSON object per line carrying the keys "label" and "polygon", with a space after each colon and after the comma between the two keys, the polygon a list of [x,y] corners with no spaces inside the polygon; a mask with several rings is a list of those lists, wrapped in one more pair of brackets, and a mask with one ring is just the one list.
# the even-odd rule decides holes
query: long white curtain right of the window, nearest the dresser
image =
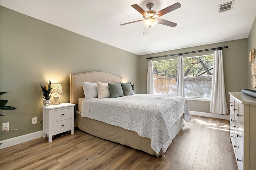
{"label": "long white curtain right of the window, nearest the dresser", "polygon": [[224,84],[222,50],[216,50],[213,53],[210,113],[217,113],[223,115],[226,115],[226,113],[228,113]]}

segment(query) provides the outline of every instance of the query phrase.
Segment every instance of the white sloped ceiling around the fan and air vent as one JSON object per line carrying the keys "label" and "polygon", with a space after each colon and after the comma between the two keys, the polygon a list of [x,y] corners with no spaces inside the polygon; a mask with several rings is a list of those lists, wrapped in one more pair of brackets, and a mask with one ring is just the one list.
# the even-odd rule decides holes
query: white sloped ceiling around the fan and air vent
{"label": "white sloped ceiling around the fan and air vent", "polygon": [[[256,0],[235,0],[233,9],[218,13],[218,5],[230,0],[1,0],[22,14],[90,37],[137,55],[248,38],[256,16]],[[178,23],[176,27],[156,24],[143,35],[142,15],[154,3],[160,11],[176,2],[181,8],[160,18]]]}

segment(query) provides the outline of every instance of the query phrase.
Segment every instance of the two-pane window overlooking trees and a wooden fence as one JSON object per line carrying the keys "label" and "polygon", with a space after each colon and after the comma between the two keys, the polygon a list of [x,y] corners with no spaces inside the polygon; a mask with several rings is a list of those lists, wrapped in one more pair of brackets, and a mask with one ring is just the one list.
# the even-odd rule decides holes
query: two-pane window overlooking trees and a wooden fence
{"label": "two-pane window overlooking trees and a wooden fence", "polygon": [[[186,98],[210,98],[212,89],[213,55],[183,59]],[[178,59],[153,63],[156,94],[176,95]]]}

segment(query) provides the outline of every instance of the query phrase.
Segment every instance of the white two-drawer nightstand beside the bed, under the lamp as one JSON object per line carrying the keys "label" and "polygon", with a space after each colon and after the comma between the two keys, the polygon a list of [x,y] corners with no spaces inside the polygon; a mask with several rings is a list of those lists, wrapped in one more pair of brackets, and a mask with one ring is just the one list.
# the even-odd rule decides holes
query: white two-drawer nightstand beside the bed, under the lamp
{"label": "white two-drawer nightstand beside the bed, under the lamp", "polygon": [[74,104],[42,106],[43,108],[43,137],[48,135],[48,142],[52,136],[70,131],[74,134]]}

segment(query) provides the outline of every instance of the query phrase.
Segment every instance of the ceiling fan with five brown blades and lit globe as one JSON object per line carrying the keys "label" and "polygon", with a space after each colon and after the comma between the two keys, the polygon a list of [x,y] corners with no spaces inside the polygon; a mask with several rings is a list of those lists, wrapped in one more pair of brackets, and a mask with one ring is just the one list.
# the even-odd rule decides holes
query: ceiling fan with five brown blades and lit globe
{"label": "ceiling fan with five brown blades and lit globe", "polygon": [[164,14],[167,14],[169,12],[172,12],[178,8],[181,7],[180,3],[175,3],[171,6],[168,6],[167,8],[164,8],[158,12],[152,10],[154,7],[153,3],[149,3],[146,5],[146,7],[148,8],[148,11],[143,10],[140,6],[138,6],[137,4],[132,5],[132,7],[137,10],[138,12],[140,12],[140,14],[143,15],[144,20],[138,20],[138,21],[132,21],[132,22],[128,22],[128,23],[123,23],[120,25],[126,25],[129,23],[135,23],[135,22],[140,22],[143,21],[145,28],[144,28],[144,32],[143,35],[148,34],[148,31],[151,27],[153,27],[154,25],[156,25],[156,23],[160,23],[162,25],[167,25],[169,27],[175,27],[177,25],[177,23],[171,22],[171,21],[167,21],[161,18],[158,18],[160,16],[163,16]]}

